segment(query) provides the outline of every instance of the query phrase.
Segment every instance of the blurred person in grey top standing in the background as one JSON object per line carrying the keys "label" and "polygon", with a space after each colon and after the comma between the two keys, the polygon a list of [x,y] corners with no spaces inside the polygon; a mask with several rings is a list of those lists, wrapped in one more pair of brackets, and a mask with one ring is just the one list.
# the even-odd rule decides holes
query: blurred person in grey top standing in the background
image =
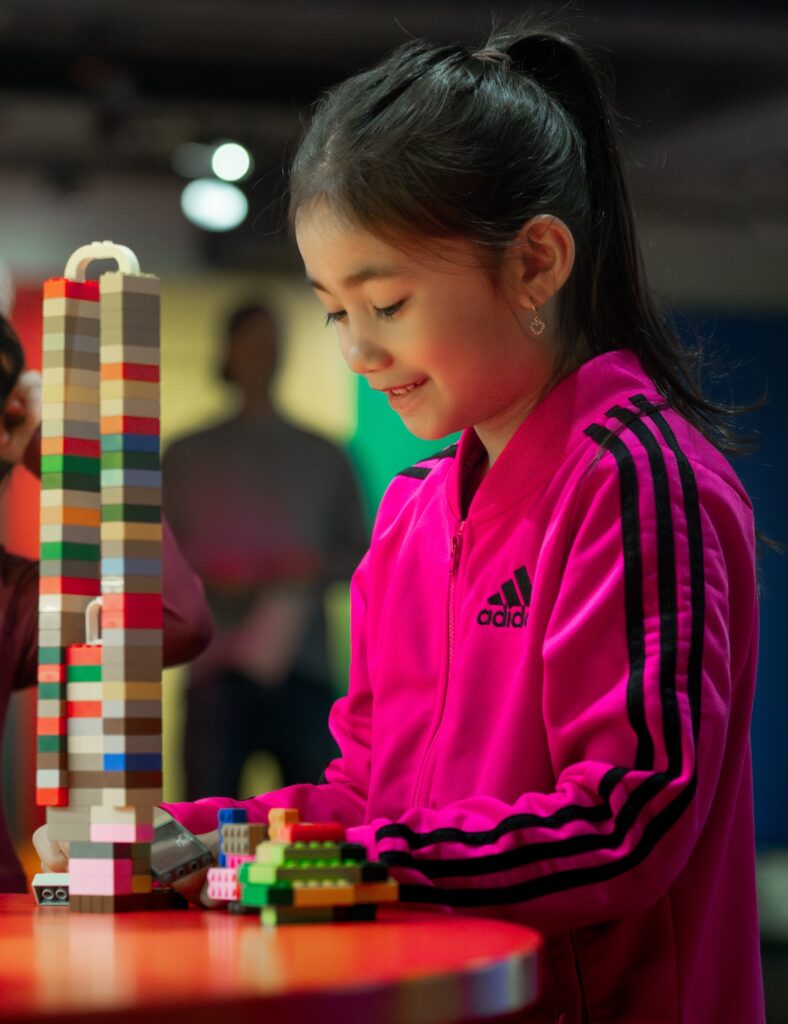
{"label": "blurred person in grey top standing in the background", "polygon": [[284,784],[317,781],[337,753],[324,593],[350,579],[366,527],[345,455],[276,411],[279,354],[270,310],[235,309],[220,373],[239,411],[176,440],[164,458],[165,510],[217,626],[189,672],[189,800],[237,794],[256,752],[274,755]]}

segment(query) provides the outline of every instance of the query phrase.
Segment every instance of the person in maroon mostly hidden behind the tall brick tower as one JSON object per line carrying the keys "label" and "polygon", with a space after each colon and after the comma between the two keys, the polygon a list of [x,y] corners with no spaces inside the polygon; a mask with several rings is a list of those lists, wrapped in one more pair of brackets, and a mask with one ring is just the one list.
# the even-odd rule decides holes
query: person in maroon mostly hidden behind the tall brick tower
{"label": "person in maroon mostly hidden behind the tall brick tower", "polygon": [[[0,502],[15,466],[35,475],[41,465],[41,375],[25,369],[15,332],[0,313]],[[198,577],[172,532],[163,536],[164,664],[195,657],[211,638],[211,614]],[[36,685],[38,563],[0,544],[0,736],[15,690]],[[21,865],[0,805],[0,892],[26,892]]]}

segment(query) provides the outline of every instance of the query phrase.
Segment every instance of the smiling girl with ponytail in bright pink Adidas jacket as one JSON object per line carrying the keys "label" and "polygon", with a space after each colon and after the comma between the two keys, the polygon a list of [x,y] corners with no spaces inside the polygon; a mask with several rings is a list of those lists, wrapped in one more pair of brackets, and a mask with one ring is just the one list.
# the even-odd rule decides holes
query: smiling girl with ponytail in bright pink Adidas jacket
{"label": "smiling girl with ponytail in bright pink Adidas jacket", "polygon": [[732,434],[655,311],[598,74],[551,31],[411,43],[320,103],[292,218],[420,437],[352,588],[319,785],[402,899],[546,937],[539,1021],[756,1024],[757,609]]}

